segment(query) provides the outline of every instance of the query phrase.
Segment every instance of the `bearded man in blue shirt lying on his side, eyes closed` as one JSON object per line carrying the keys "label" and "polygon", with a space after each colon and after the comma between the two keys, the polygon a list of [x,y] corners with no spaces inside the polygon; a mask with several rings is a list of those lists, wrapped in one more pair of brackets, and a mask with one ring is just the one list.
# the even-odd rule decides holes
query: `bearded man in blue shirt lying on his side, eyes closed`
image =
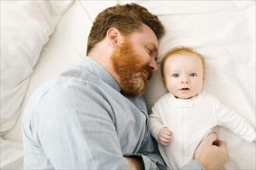
{"label": "bearded man in blue shirt lying on his side, eyes closed", "polygon": [[[157,70],[163,35],[157,16],[140,5],[101,12],[81,66],[45,83],[26,108],[24,168],[165,169],[141,97]],[[184,168],[223,168],[225,162],[223,142],[210,134]]]}

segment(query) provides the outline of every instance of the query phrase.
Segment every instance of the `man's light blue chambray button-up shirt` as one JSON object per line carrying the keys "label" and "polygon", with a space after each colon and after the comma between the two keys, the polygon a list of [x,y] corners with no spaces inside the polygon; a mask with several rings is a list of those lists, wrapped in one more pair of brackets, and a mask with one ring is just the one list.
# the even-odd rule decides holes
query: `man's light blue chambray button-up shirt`
{"label": "man's light blue chambray button-up shirt", "polygon": [[129,169],[131,155],[146,169],[164,169],[143,98],[124,96],[90,57],[36,90],[22,135],[25,169]]}

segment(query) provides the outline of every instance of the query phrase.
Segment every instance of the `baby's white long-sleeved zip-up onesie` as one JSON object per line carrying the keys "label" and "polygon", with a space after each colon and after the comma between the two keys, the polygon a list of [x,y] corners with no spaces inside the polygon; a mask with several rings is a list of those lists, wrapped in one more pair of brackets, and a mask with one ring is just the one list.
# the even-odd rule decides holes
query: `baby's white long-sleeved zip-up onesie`
{"label": "baby's white long-sleeved zip-up onesie", "polygon": [[150,114],[150,133],[156,140],[161,128],[172,132],[171,145],[158,144],[168,169],[179,169],[191,162],[199,143],[216,125],[248,142],[255,138],[254,128],[240,114],[203,90],[192,99],[177,99],[167,93],[157,100]]}

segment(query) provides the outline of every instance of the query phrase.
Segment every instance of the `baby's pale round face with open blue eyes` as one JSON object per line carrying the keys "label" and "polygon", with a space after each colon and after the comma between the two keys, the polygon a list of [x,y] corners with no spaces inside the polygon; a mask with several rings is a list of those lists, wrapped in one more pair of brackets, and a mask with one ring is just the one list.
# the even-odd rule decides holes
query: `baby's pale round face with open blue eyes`
{"label": "baby's pale round face with open blue eyes", "polygon": [[193,53],[177,53],[164,63],[164,85],[177,98],[189,99],[202,89],[202,61]]}

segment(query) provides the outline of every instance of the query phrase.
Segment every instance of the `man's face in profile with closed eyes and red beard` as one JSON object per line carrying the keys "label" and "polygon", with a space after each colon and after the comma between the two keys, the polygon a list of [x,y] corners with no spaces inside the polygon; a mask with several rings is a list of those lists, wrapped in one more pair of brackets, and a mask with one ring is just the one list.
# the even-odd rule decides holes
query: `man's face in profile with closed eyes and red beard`
{"label": "man's face in profile with closed eyes and red beard", "polygon": [[157,50],[157,37],[144,24],[139,32],[124,37],[111,56],[112,67],[119,76],[122,93],[133,97],[144,93],[147,80],[158,69]]}

